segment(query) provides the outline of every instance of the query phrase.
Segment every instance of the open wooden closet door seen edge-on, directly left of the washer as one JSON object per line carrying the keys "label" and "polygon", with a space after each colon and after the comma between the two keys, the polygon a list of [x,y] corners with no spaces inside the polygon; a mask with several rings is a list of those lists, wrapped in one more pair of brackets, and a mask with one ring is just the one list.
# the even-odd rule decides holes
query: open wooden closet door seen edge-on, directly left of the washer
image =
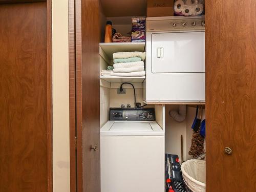
{"label": "open wooden closet door seen edge-on, directly left of the washer", "polygon": [[100,192],[99,1],[76,1],[75,11],[77,189]]}

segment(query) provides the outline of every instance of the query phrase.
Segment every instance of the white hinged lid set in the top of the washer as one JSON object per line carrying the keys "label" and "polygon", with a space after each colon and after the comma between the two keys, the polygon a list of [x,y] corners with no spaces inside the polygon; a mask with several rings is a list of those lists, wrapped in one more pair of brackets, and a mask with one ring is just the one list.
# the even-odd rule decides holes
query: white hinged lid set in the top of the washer
{"label": "white hinged lid set in the top of the washer", "polygon": [[152,126],[148,122],[114,122],[109,131],[152,132]]}

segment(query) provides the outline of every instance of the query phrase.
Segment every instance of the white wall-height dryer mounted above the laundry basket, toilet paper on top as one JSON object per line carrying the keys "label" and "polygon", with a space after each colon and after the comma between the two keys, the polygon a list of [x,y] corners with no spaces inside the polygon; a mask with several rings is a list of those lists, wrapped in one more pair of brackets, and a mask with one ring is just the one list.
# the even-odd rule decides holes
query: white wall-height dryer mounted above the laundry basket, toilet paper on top
{"label": "white wall-height dryer mounted above the laundry basket, toilet paper on top", "polygon": [[144,100],[205,101],[203,16],[147,18]]}

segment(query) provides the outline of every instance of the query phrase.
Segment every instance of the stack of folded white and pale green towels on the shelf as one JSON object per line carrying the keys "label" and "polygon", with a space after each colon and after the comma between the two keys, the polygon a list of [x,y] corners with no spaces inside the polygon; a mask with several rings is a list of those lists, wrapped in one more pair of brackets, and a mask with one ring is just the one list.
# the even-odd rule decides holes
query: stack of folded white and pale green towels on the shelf
{"label": "stack of folded white and pale green towels on the shelf", "polygon": [[114,53],[114,69],[112,76],[140,77],[145,76],[144,60],[145,52],[120,52]]}

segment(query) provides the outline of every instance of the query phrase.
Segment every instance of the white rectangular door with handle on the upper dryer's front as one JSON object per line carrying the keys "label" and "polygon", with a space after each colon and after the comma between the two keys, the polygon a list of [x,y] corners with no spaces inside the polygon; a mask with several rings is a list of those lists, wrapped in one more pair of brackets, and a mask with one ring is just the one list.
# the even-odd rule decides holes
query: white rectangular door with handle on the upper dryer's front
{"label": "white rectangular door with handle on the upper dryer's front", "polygon": [[152,34],[152,73],[205,72],[204,32]]}

